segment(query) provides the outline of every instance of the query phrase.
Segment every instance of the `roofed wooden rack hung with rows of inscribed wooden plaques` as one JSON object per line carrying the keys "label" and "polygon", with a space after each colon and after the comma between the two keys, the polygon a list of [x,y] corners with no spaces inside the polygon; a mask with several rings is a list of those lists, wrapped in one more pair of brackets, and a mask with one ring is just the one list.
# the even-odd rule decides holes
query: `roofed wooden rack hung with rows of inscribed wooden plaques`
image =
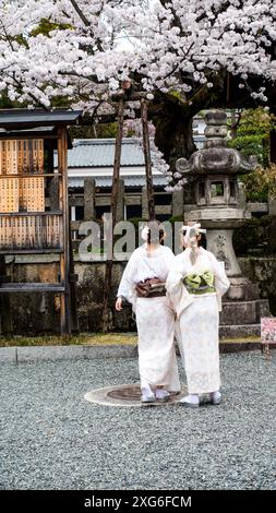
{"label": "roofed wooden rack hung with rows of inscribed wooden plaques", "polygon": [[[57,283],[12,283],[1,264],[2,295],[59,293],[61,333],[72,330],[70,225],[68,201],[68,126],[81,111],[0,110],[0,258],[58,253]],[[58,166],[53,166],[57,151]]]}

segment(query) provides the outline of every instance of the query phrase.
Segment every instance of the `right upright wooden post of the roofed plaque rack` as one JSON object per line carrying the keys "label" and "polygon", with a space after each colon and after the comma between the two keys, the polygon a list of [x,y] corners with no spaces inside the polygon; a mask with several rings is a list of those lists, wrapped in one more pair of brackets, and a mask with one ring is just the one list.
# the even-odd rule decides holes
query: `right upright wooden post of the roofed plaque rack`
{"label": "right upright wooden post of the roofed plaque rack", "polygon": [[62,216],[62,243],[63,251],[60,255],[60,281],[64,286],[64,291],[61,293],[60,297],[60,317],[61,317],[61,334],[70,335],[71,334],[71,301],[70,301],[70,285],[69,285],[69,274],[70,274],[70,247],[69,247],[69,237],[71,237],[70,226],[69,226],[69,199],[68,199],[68,176],[67,176],[67,154],[68,154],[68,139],[67,139],[67,128],[59,128],[59,139],[58,139],[58,165],[59,172],[62,174],[60,179],[59,187],[59,207],[63,212]]}

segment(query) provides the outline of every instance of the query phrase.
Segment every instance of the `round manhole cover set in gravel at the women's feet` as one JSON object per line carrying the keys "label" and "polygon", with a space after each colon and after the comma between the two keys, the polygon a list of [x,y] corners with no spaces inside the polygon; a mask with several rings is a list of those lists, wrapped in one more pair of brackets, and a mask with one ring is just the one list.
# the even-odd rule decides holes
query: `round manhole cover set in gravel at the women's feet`
{"label": "round manhole cover set in gravel at the women's feet", "polygon": [[142,404],[140,384],[136,383],[92,390],[84,395],[84,398],[89,403],[107,406],[165,406],[178,403],[184,392],[184,390],[181,390],[179,393],[172,393],[167,403],[156,401],[155,403]]}

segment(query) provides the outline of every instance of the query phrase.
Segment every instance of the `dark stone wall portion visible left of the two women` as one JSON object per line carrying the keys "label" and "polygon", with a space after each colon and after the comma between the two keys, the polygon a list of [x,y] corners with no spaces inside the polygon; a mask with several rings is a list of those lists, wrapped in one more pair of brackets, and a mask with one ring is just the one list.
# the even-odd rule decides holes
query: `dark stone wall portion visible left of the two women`
{"label": "dark stone wall portion visible left of the two women", "polygon": [[[111,303],[115,303],[118,284],[124,269],[116,262],[112,271]],[[58,258],[15,256],[8,260],[7,272],[13,282],[58,282]],[[81,332],[100,332],[103,314],[103,291],[105,264],[75,261],[77,314]],[[53,293],[16,293],[10,295],[14,333],[35,335],[60,332],[60,296]],[[1,312],[0,312],[1,315]],[[121,313],[112,312],[113,330],[135,331],[131,307],[125,306]]]}

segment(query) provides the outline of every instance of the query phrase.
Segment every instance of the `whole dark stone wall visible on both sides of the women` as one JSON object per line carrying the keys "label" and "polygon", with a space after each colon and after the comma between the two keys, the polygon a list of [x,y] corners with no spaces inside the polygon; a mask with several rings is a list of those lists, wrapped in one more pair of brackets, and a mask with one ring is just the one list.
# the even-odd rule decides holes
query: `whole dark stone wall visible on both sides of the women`
{"label": "whole dark stone wall visible on both sides of the women", "polygon": [[[269,300],[271,312],[276,315],[276,258],[240,258],[242,272],[260,285],[261,298]],[[111,302],[115,303],[117,287],[124,263],[113,264],[113,286]],[[17,256],[10,259],[8,273],[15,282],[58,281],[57,259],[51,255]],[[77,283],[77,312],[82,332],[99,332],[101,329],[103,290],[105,265],[103,263],[84,263],[75,261]],[[60,325],[59,295],[55,294],[12,294],[11,307],[15,334],[58,333]],[[127,306],[121,313],[112,312],[113,330],[117,332],[135,331],[131,308]]]}

